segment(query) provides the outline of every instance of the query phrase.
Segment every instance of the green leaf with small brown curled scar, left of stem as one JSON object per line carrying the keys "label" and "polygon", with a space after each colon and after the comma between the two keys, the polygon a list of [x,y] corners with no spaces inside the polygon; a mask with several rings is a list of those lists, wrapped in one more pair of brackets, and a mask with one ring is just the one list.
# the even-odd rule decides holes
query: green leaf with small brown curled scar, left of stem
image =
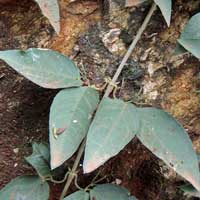
{"label": "green leaf with small brown curled scar, left of stem", "polygon": [[89,87],[62,90],[54,98],[49,121],[52,169],[75,153],[98,102],[98,92]]}

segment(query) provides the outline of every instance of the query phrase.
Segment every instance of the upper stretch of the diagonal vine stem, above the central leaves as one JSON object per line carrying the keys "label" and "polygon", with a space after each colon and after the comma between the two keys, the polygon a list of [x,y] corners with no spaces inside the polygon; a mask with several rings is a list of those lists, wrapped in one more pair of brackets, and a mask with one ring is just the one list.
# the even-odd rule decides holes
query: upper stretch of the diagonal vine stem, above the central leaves
{"label": "upper stretch of the diagonal vine stem, above the central leaves", "polygon": [[138,30],[137,32],[137,35],[135,36],[132,44],[130,45],[127,53],[125,54],[124,58],[122,59],[122,62],[121,64],[119,65],[119,67],[117,68],[117,71],[115,73],[115,75],[113,76],[112,78],[112,81],[111,83],[108,85],[107,89],[106,89],[106,92],[104,94],[104,97],[108,97],[110,95],[110,93],[112,92],[113,90],[113,85],[116,83],[120,73],[122,72],[122,69],[124,68],[127,60],[129,59],[129,57],[131,56],[137,42],[139,41],[139,39],[141,38],[141,35],[142,33],[144,32],[145,28],[147,27],[150,19],[151,19],[151,16],[153,15],[154,11],[156,10],[156,4],[153,3],[153,5],[151,6],[150,10],[149,10],[149,13],[147,14],[142,26],[140,27],[140,29]]}

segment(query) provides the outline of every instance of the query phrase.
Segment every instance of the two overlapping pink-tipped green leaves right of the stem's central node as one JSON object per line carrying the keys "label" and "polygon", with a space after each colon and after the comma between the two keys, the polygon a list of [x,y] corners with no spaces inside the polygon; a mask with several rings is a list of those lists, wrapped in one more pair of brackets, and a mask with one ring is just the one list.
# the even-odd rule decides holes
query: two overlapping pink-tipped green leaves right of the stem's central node
{"label": "two overlapping pink-tipped green leaves right of the stem's central node", "polygon": [[101,101],[87,135],[84,172],[95,170],[119,153],[135,135],[168,166],[199,188],[197,156],[183,127],[162,110],[136,108],[117,99]]}

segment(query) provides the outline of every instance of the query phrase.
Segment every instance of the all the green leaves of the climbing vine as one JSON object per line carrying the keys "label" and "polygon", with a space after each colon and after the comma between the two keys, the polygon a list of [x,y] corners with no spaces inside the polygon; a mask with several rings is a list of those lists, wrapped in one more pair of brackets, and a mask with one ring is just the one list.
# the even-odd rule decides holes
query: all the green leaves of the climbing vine
{"label": "all the green leaves of the climbing vine", "polygon": [[[57,0],[35,1],[59,33]],[[172,0],[154,1],[169,26]],[[143,0],[127,1],[131,5],[141,2]],[[200,58],[200,13],[191,18],[178,42],[178,53],[188,50]],[[99,104],[96,90],[81,87],[77,66],[64,55],[49,49],[0,51],[0,59],[41,87],[63,89],[54,98],[50,109],[50,152],[47,145],[34,143],[32,155],[26,158],[40,177],[16,178],[0,191],[0,199],[47,200],[49,186],[44,181],[50,177],[48,180],[58,182],[53,180],[51,169],[68,160],[86,136],[85,173],[92,172],[117,155],[137,136],[152,153],[192,184],[181,187],[186,194],[200,197],[197,156],[187,133],[171,115],[159,109],[137,108],[131,103],[107,97]],[[75,173],[73,170],[71,174]],[[66,173],[69,177],[71,174]],[[97,185],[90,192],[86,192],[87,189],[75,192],[65,200],[136,200],[126,189],[112,184]]]}

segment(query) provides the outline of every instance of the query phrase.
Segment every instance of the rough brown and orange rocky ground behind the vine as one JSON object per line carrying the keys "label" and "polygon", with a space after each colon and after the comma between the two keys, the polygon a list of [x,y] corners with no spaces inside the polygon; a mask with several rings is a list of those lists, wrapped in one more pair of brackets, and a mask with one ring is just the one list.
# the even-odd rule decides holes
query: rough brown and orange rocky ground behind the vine
{"label": "rough brown and orange rocky ground behind the vine", "polygon": [[[29,0],[0,6],[0,50],[52,48],[70,56],[82,76],[101,85],[112,77],[149,4],[124,8],[123,1],[60,0],[57,36],[38,6]],[[184,5],[184,6],[182,6]],[[200,63],[190,55],[173,56],[176,40],[200,2],[177,0],[167,28],[157,10],[119,78],[117,96],[136,105],[160,107],[187,129],[200,152]],[[112,31],[117,30],[112,38]],[[120,32],[120,34],[118,34]],[[111,37],[111,38],[110,38]],[[0,188],[16,176],[34,173],[24,161],[33,141],[48,141],[49,107],[57,91],[42,89],[0,62]],[[183,180],[134,139],[100,168],[103,182],[120,182],[140,200],[185,200],[176,189]],[[92,175],[79,178],[87,185]],[[62,185],[53,187],[56,200]],[[72,187],[72,191],[74,191]]]}

